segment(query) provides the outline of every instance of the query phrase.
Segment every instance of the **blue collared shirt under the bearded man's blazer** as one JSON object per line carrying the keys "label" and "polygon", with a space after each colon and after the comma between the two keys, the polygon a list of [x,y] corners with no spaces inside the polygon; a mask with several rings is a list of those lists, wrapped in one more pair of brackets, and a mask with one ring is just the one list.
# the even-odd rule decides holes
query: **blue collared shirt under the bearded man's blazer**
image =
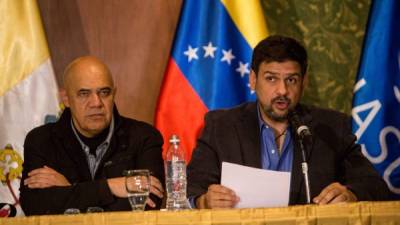
{"label": "blue collared shirt under the bearded man's blazer", "polygon": [[258,105],[257,115],[260,126],[261,167],[266,170],[291,172],[294,146],[289,127],[286,128],[285,140],[279,154],[274,130],[262,120]]}

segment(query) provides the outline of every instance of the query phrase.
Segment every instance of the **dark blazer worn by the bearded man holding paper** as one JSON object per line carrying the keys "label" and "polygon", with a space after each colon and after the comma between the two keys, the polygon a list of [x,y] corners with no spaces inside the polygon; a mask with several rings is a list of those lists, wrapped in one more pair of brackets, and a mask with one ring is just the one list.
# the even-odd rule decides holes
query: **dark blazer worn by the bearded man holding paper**
{"label": "dark blazer worn by the bearded man holding paper", "polygon": [[[311,198],[333,182],[351,189],[358,200],[385,200],[385,182],[361,154],[350,120],[342,113],[299,105],[313,142],[307,151]],[[293,133],[293,131],[292,131]],[[295,136],[295,135],[292,135]],[[298,143],[295,140],[295,143]],[[261,168],[260,128],[256,103],[207,113],[205,127],[188,166],[188,195],[197,197],[221,180],[222,162]],[[295,144],[289,204],[305,204],[301,151]],[[267,190],[266,190],[267,191]]]}

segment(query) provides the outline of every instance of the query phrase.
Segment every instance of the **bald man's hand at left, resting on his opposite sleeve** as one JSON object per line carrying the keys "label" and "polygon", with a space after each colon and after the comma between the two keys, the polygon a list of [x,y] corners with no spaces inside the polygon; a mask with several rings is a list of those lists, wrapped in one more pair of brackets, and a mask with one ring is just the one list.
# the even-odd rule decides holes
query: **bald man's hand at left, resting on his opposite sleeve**
{"label": "bald man's hand at left, resting on his opposite sleeve", "polygon": [[24,185],[29,188],[48,188],[54,186],[70,186],[69,181],[61,173],[44,166],[28,173]]}

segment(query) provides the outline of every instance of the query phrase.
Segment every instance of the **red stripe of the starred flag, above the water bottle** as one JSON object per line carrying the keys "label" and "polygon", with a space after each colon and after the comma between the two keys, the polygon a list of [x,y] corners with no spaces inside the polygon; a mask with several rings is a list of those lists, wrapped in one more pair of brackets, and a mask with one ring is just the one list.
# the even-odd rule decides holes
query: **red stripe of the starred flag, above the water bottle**
{"label": "red stripe of the starred flag, above the water bottle", "polygon": [[186,162],[190,161],[207,111],[207,107],[171,58],[161,87],[155,118],[155,126],[164,137],[163,157],[169,147],[169,138],[176,134],[181,140],[181,147],[185,149]]}

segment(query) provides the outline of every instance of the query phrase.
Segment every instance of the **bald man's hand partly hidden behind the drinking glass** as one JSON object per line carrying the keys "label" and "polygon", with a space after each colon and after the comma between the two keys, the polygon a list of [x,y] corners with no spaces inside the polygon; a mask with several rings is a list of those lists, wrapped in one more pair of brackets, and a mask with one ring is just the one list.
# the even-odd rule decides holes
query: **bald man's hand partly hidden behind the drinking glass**
{"label": "bald man's hand partly hidden behind the drinking glass", "polygon": [[[128,193],[126,192],[125,187],[125,177],[116,177],[107,179],[108,186],[110,187],[111,192],[120,198],[128,197]],[[161,185],[161,182],[153,176],[150,176],[150,193],[156,195],[159,198],[163,197],[164,189]],[[150,207],[156,207],[156,204],[150,199],[147,198],[146,203]]]}

